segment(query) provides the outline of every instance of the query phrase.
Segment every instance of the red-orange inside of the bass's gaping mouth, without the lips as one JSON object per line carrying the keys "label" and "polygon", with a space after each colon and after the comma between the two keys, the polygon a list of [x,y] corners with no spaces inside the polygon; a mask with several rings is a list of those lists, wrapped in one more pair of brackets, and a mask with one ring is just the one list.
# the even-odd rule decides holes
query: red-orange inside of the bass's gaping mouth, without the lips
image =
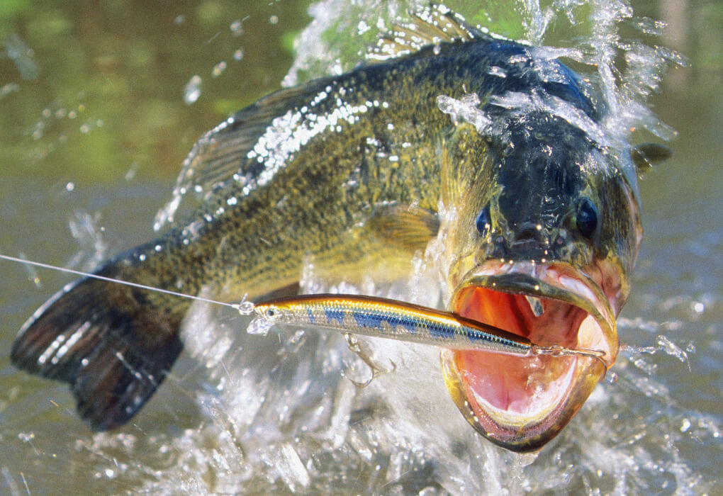
{"label": "red-orange inside of the bass's gaping mouth, without the lips", "polygon": [[[523,294],[471,287],[455,302],[455,312],[495,325],[533,343],[575,349],[578,329],[587,312],[554,299],[540,298],[544,312],[537,317]],[[517,357],[485,351],[455,351],[463,383],[490,406],[512,414],[531,415],[545,409],[567,390],[575,357]],[[479,403],[474,401],[473,403]],[[477,411],[477,414],[482,412]]]}

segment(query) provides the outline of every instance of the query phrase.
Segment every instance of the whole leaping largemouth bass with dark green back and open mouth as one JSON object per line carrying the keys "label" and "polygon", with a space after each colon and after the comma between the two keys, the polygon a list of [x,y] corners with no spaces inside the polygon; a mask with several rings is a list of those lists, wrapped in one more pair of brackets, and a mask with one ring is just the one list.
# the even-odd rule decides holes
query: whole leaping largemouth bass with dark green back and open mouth
{"label": "whole leaping largemouth bass with dark green back and open mouth", "polygon": [[[423,18],[422,18],[423,17]],[[382,41],[377,61],[279,90],[194,145],[174,190],[201,205],[97,274],[232,301],[330,282],[395,281],[432,241],[449,309],[564,357],[442,351],[465,418],[535,450],[615,362],[615,317],[641,240],[631,150],[560,61],[442,8]],[[645,162],[646,150],[635,158]],[[83,278],[30,317],[14,364],[69,382],[80,415],[137,414],[183,347],[189,302]]]}

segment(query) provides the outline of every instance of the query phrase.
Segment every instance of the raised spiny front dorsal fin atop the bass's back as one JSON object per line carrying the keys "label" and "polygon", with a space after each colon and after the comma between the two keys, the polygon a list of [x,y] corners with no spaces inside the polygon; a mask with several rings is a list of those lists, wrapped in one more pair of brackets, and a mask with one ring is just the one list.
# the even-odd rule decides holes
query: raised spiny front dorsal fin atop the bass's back
{"label": "raised spiny front dorsal fin atop the bass's back", "polygon": [[464,17],[443,5],[432,4],[409,15],[411,22],[397,23],[382,35],[377,46],[369,50],[368,60],[393,59],[419,51],[424,46],[484,36],[481,30],[466,24]]}

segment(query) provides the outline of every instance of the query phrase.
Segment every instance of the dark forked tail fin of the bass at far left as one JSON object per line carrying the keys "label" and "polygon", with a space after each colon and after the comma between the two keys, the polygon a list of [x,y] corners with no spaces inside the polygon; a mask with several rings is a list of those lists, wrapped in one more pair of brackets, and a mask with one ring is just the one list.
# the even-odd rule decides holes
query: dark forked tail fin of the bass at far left
{"label": "dark forked tail fin of the bass at far left", "polygon": [[25,322],[12,362],[69,382],[80,416],[95,430],[112,429],[140,410],[181,353],[174,315],[149,304],[141,290],[80,279]]}

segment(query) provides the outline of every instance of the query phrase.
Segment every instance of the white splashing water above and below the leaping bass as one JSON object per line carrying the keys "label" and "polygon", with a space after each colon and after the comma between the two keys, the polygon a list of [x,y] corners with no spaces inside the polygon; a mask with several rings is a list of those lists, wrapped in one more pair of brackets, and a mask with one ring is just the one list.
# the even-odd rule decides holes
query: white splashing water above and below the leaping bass
{"label": "white splashing water above and below the leaping bass", "polygon": [[[367,40],[373,40],[406,9],[424,7],[423,3],[349,4],[325,0],[314,4],[309,11],[312,23],[296,41],[298,55],[284,85],[353,67],[359,54],[366,51]],[[481,17],[470,9],[459,8],[468,19]],[[590,16],[588,11],[592,12]],[[560,33],[554,33],[558,22],[573,26],[565,41],[567,46],[544,46],[539,48],[539,56],[575,64],[586,78],[588,96],[607,106],[609,116],[602,124],[596,124],[574,109],[570,111],[564,103],[515,101],[515,95],[500,98],[498,105],[520,111],[545,106],[609,146],[627,142],[632,130],[638,128],[664,138],[674,136],[675,132],[649,111],[645,101],[656,91],[664,66],[677,62],[676,56],[623,39],[620,25],[638,22],[627,2],[559,0],[552,2],[552,7],[541,8],[538,2],[530,0],[519,2],[513,14],[523,25],[525,38],[535,44],[544,44],[551,31],[559,38]],[[649,20],[641,20],[639,25],[649,34],[659,28]],[[487,27],[495,31],[495,21]],[[623,69],[615,66],[620,59],[625,61]],[[489,119],[474,96],[454,100],[440,95],[440,110],[453,120],[469,121],[488,130]],[[414,283],[409,286],[368,283],[364,288],[345,286],[343,292],[361,291],[408,301],[431,294],[435,295],[432,299],[439,299],[445,291],[439,279],[419,277],[422,273],[435,273],[427,261],[422,256],[416,260],[418,275],[410,278]],[[338,289],[315,278],[312,267],[307,265],[304,270],[304,292]],[[243,387],[251,388],[251,395],[262,400],[254,409],[254,420],[249,424],[253,427],[241,435],[240,442],[244,453],[258,452],[244,457],[242,471],[229,472],[221,463],[214,463],[213,470],[222,478],[238,477],[243,481],[241,487],[254,490],[313,487],[318,492],[522,494],[566,487],[589,494],[623,494],[653,487],[660,491],[662,487],[664,493],[705,491],[708,483],[688,468],[675,446],[682,436],[690,435],[696,428],[705,437],[714,437],[721,429],[715,420],[684,413],[670,398],[669,389],[656,379],[659,356],[674,356],[690,366],[685,346],[663,334],[671,328],[659,331],[651,351],[632,346],[623,351],[623,356],[632,356],[625,356],[623,364],[616,368],[620,379],[615,385],[601,385],[595,390],[576,421],[560,439],[545,448],[544,457],[518,456],[500,450],[472,435],[464,422],[457,422],[459,415],[450,408],[434,352],[397,343],[380,347],[368,341],[377,360],[392,360],[398,369],[378,377],[369,388],[356,390],[346,379],[330,372],[341,363],[354,363],[354,356],[343,342],[309,331],[300,344],[291,346],[294,335],[280,329],[279,342],[272,353],[276,362],[271,369],[275,372],[265,376],[263,370],[255,367],[242,368],[244,377],[255,377],[244,381]],[[236,362],[231,367],[243,361],[241,356],[229,358]],[[227,360],[224,362],[228,365]],[[294,367],[293,371],[289,367]],[[419,391],[420,375],[425,377],[424,391]],[[249,395],[248,389],[244,395]],[[274,398],[280,399],[281,404],[275,403]],[[646,411],[636,416],[631,412],[635,409]],[[654,413],[655,409],[661,413]],[[646,420],[629,422],[631,417]],[[439,422],[440,418],[445,422]],[[670,434],[671,431],[674,432]],[[660,432],[667,433],[664,440]],[[189,435],[194,443],[202,445],[208,432]],[[651,448],[658,441],[662,441],[664,448]],[[269,450],[276,453],[276,458]],[[271,462],[281,463],[284,468],[272,469]],[[205,488],[219,487],[223,484]]]}

